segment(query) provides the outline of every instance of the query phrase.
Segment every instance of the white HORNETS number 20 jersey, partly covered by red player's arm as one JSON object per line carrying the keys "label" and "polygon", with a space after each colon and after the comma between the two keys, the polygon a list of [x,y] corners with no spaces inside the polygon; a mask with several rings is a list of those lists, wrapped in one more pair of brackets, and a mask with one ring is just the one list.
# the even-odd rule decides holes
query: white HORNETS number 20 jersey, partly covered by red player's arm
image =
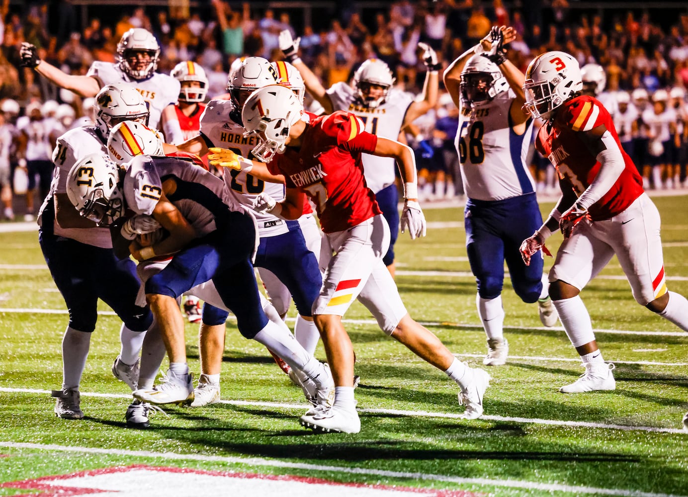
{"label": "white HORNETS number 20 jersey, partly covered by red player's arm", "polygon": [[[201,134],[213,146],[229,148],[242,157],[252,158],[253,148],[258,144],[255,136],[245,137],[244,128],[229,117],[233,110],[230,100],[211,100],[201,116]],[[255,212],[257,195],[266,192],[279,201],[286,195],[284,184],[270,183],[257,179],[244,171],[228,169],[224,181],[231,197],[246,206],[258,222],[259,236],[276,236],[289,231],[287,223],[267,212]]]}

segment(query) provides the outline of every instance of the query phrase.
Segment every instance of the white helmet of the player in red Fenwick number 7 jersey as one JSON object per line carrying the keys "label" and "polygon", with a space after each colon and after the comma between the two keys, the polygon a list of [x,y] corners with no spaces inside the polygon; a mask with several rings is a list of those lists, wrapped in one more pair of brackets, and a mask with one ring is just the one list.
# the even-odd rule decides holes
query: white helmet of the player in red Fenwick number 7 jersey
{"label": "white helmet of the player in red Fenwick number 7 jersey", "polygon": [[258,144],[251,151],[262,162],[283,153],[291,127],[301,120],[303,105],[294,92],[282,85],[270,85],[251,93],[241,111],[245,136],[255,135]]}

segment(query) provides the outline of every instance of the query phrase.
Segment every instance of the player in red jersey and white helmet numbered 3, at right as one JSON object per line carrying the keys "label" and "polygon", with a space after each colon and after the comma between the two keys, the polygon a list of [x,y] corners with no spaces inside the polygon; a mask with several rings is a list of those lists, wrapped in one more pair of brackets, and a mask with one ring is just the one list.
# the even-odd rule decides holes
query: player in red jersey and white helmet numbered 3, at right
{"label": "player in red jersey and white helmet numbered 3, at right", "polygon": [[667,289],[657,208],[625,153],[607,109],[583,96],[578,61],[546,52],[526,71],[526,106],[546,123],[536,140],[559,173],[561,198],[545,223],[524,240],[524,261],[544,247],[557,228],[564,241],[550,270],[550,296],[585,373],[562,393],[614,390],[613,364],[595,341],[580,291],[614,255],[638,304],[688,331],[688,300]]}

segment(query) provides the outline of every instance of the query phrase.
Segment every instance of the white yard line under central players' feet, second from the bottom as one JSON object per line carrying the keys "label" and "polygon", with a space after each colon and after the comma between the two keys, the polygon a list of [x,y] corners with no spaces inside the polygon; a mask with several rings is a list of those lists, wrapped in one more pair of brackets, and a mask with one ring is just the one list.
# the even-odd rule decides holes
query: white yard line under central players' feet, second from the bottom
{"label": "white yard line under central players' feet, second from the bottom", "polygon": [[[7,393],[37,393],[50,395],[50,390],[39,390],[34,388],[5,388],[0,387],[0,392]],[[106,399],[131,399],[131,395],[124,394],[110,394],[110,393],[89,393],[81,392],[82,397],[103,397]],[[260,401],[244,401],[244,400],[222,400],[221,404],[228,404],[230,406],[248,406],[248,407],[270,407],[281,409],[305,409],[308,408],[305,404],[283,404],[281,402],[260,402]],[[415,411],[415,410],[396,410],[396,409],[358,409],[358,412],[383,414],[391,416],[408,416],[408,417],[428,417],[428,418],[444,418],[444,419],[461,419],[461,414],[452,412],[431,412],[431,411]],[[562,421],[559,419],[539,419],[539,418],[524,418],[524,417],[508,417],[508,416],[488,416],[483,415],[480,419],[486,421],[500,421],[510,423],[527,423],[535,425],[548,426],[568,426],[574,428],[601,428],[603,430],[623,430],[633,432],[654,432],[654,433],[674,433],[688,435],[688,431],[680,428],[660,428],[657,426],[631,426],[631,425],[616,425],[605,423],[590,423],[588,421]]]}

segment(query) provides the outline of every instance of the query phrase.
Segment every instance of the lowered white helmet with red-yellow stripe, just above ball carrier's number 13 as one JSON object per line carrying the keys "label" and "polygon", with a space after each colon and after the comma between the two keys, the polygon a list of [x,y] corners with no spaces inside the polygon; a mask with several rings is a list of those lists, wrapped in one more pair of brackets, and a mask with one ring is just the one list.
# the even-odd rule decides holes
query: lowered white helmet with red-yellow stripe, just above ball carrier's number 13
{"label": "lowered white helmet with red-yellow stripe, just above ball carrier's number 13", "polygon": [[160,133],[135,121],[120,122],[110,130],[107,153],[117,164],[137,155],[165,155]]}

